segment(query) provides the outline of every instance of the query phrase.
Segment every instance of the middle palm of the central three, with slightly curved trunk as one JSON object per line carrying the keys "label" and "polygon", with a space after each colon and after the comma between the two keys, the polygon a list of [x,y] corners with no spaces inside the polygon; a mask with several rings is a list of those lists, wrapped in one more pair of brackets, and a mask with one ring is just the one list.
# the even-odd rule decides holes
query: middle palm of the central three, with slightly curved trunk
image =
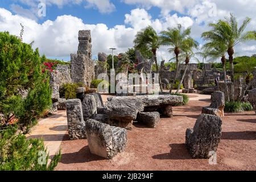
{"label": "middle palm of the central three, with slightly curved trunk", "polygon": [[178,24],[176,28],[167,28],[167,31],[161,32],[161,40],[163,46],[171,46],[169,49],[170,52],[174,52],[176,56],[176,71],[175,78],[172,80],[170,93],[172,93],[172,89],[174,83],[179,74],[179,54],[181,52],[181,44],[187,36],[191,34],[191,28],[187,28],[184,31],[181,30],[181,24]]}

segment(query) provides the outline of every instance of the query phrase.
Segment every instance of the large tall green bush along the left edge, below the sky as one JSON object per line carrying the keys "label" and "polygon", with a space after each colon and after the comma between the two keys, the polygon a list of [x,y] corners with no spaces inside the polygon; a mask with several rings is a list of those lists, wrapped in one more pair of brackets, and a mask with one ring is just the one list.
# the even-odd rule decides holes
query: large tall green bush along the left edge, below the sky
{"label": "large tall green bush along the left edge, below the sky", "polygon": [[8,32],[0,32],[0,129],[18,121],[23,132],[51,107],[46,57]]}

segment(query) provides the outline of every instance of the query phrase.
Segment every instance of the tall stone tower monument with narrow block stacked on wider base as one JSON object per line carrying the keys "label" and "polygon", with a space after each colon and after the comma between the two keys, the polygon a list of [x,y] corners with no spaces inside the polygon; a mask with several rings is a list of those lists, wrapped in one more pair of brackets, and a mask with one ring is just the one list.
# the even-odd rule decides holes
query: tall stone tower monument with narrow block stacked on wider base
{"label": "tall stone tower monument with narrow block stacked on wider base", "polygon": [[90,86],[90,82],[94,78],[91,42],[90,30],[80,30],[77,54],[71,54],[72,82],[80,82],[85,86]]}

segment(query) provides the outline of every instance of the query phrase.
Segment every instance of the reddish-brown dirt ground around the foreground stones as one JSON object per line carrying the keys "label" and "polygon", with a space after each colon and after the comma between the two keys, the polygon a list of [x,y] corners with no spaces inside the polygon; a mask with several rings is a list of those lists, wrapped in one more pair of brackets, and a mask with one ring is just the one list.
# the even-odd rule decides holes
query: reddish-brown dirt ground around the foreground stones
{"label": "reddish-brown dirt ground around the foreground stones", "polygon": [[156,129],[135,124],[128,131],[125,152],[112,160],[90,154],[87,140],[61,143],[62,159],[57,170],[256,170],[256,115],[254,111],[226,114],[217,165],[207,159],[192,159],[185,148],[185,131],[193,127],[202,106],[209,100],[190,101],[174,107],[173,118],[162,118]]}

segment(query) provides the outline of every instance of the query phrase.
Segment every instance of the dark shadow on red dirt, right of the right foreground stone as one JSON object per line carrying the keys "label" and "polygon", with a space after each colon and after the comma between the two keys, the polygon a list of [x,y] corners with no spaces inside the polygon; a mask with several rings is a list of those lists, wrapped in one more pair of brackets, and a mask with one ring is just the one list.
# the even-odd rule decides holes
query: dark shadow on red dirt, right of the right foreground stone
{"label": "dark shadow on red dirt, right of the right foreground stone", "polygon": [[256,140],[256,131],[222,132],[221,139],[224,139],[224,140]]}

